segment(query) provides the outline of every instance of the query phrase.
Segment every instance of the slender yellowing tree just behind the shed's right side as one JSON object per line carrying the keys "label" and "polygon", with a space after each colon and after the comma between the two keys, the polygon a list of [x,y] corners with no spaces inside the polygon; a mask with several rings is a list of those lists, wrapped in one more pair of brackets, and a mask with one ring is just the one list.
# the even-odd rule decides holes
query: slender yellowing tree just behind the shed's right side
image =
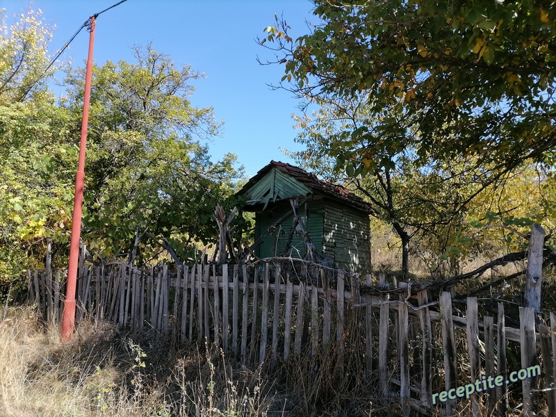
{"label": "slender yellowing tree just behind the shed's right side", "polygon": [[[373,205],[372,215],[390,224],[400,238],[403,276],[409,273],[412,240],[416,240],[414,245],[427,240],[430,252],[457,265],[455,255],[461,253],[457,246],[464,238],[456,230],[461,231],[466,213],[477,208],[477,197],[500,183],[506,172],[485,170],[473,157],[449,164],[432,160],[424,164],[414,152],[417,136],[407,134],[404,152],[382,155],[381,163],[363,175],[346,163],[373,163],[367,158],[358,161],[360,145],[350,142],[361,126],[373,131],[382,121],[368,111],[366,102],[321,101],[322,107],[313,112],[313,117],[297,117],[302,132],[296,140],[306,149],[290,152],[290,156],[327,179],[343,182]],[[395,135],[393,131],[390,133]],[[383,136],[382,140],[390,137]],[[338,163],[342,158],[344,162]],[[342,167],[339,170],[335,169],[338,165]]]}

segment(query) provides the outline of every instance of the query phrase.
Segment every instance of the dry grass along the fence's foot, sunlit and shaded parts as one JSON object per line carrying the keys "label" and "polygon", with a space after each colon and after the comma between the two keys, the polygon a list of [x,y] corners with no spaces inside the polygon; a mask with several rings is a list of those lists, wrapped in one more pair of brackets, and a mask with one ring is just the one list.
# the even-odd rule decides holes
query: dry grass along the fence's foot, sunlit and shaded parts
{"label": "dry grass along the fence's foot, sunlit and shaded parts", "polygon": [[[1,317],[0,317],[1,318]],[[346,357],[349,357],[348,352]],[[154,331],[81,322],[72,341],[30,308],[0,321],[0,416],[390,416],[355,364],[319,352],[270,368]]]}

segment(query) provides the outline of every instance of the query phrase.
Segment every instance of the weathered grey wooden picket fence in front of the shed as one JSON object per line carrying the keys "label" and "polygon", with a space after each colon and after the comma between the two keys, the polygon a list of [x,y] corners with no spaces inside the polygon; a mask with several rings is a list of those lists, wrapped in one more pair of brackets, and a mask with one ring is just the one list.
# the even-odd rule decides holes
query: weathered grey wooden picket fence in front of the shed
{"label": "weathered grey wooden picket fence in front of the shed", "polygon": [[[300,265],[81,265],[77,320],[88,316],[130,332],[156,329],[182,343],[216,343],[247,364],[277,366],[292,355],[332,350],[338,373],[363,375],[382,397],[399,398],[404,416],[411,409],[505,416],[516,395],[523,398],[524,415],[546,406],[556,416],[553,313],[548,324],[539,324],[533,309],[520,308],[519,327],[508,327],[501,302],[495,317],[480,318],[476,297],[468,297],[461,311],[452,307],[448,292],[432,300],[426,290],[388,290],[383,274]],[[65,277],[51,270],[28,272],[29,300],[45,320],[61,318]],[[538,377],[475,393],[471,402],[432,403],[434,394],[482,376],[503,375],[506,381],[512,371],[536,365],[542,368]]]}

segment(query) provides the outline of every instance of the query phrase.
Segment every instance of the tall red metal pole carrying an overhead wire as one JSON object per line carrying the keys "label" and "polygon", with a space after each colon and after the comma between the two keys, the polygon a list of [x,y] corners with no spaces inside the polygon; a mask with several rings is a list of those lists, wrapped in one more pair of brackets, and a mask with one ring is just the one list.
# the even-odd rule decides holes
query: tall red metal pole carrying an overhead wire
{"label": "tall red metal pole carrying an overhead wire", "polygon": [[77,264],[79,263],[79,240],[81,237],[81,213],[83,206],[83,185],[85,183],[85,148],[87,147],[87,126],[89,122],[89,101],[92,78],[92,46],[95,43],[95,16],[90,18],[89,56],[85,73],[85,95],[83,97],[83,118],[81,120],[81,142],[79,145],[79,165],[75,176],[74,213],[72,216],[72,240],[70,243],[70,265],[67,270],[67,287],[62,316],[62,338],[72,338],[75,326],[75,288]]}

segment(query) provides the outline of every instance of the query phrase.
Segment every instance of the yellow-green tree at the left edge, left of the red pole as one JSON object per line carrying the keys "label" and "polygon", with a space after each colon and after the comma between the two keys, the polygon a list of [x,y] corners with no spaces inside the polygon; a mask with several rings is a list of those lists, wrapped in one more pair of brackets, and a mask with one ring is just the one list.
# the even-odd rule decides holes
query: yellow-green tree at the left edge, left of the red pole
{"label": "yellow-green tree at the left edge, left of the red pole", "polygon": [[[8,28],[0,11],[0,292],[25,265],[44,259],[45,240],[65,226],[71,192],[51,182],[65,116],[47,88],[51,29],[28,10]],[[64,155],[63,155],[64,154]],[[61,240],[63,238],[61,236]]]}

